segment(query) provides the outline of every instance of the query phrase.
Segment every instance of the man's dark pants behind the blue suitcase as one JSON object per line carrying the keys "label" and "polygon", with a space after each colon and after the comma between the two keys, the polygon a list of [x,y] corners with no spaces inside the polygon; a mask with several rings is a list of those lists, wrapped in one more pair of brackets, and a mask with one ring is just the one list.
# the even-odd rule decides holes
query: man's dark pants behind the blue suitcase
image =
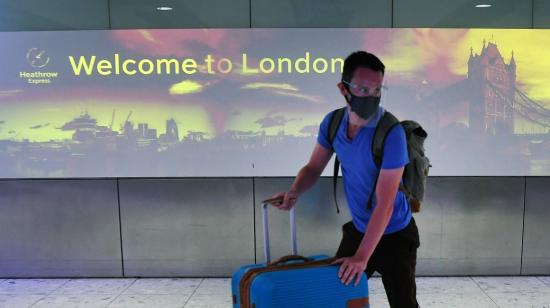
{"label": "man's dark pants behind the blue suitcase", "polygon": [[[343,237],[337,257],[351,257],[359,248],[363,233],[350,221],[342,226]],[[377,271],[382,276],[391,308],[416,308],[416,250],[420,246],[414,218],[403,230],[383,235],[372,254],[365,273]]]}

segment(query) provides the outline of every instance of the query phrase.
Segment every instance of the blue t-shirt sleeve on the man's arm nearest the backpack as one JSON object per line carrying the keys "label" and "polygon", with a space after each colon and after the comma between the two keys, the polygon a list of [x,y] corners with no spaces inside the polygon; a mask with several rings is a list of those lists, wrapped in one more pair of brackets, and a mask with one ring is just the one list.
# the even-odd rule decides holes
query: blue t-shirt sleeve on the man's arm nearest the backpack
{"label": "blue t-shirt sleeve on the man's arm nearest the backpack", "polygon": [[382,158],[382,169],[400,168],[409,163],[407,138],[403,126],[396,125],[388,132]]}

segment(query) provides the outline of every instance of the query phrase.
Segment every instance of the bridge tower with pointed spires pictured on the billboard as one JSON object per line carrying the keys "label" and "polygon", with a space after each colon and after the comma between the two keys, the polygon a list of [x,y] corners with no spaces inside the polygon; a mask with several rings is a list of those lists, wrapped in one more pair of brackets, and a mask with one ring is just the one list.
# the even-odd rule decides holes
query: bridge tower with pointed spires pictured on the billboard
{"label": "bridge tower with pointed spires pictured on the billboard", "polygon": [[514,114],[510,106],[516,89],[514,53],[504,62],[495,43],[483,40],[481,54],[470,49],[468,60],[470,88],[470,130],[478,134],[508,135],[514,132]]}

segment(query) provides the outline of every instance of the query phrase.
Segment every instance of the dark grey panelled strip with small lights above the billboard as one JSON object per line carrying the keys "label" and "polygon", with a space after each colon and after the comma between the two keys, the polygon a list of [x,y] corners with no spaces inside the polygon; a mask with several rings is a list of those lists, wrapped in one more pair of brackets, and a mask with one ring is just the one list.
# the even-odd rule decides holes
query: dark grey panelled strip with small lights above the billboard
{"label": "dark grey panelled strip with small lights above the billboard", "polygon": [[0,31],[353,27],[550,28],[550,1],[0,0]]}

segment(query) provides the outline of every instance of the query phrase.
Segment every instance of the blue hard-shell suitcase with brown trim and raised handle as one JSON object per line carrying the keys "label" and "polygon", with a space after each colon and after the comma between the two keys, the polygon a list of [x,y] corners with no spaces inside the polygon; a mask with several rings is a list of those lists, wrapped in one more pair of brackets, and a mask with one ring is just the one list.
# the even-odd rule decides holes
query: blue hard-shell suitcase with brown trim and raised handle
{"label": "blue hard-shell suitcase with brown trim and raised handle", "polygon": [[357,287],[338,278],[334,258],[297,255],[294,208],[290,210],[292,255],[271,261],[269,249],[269,203],[263,204],[264,253],[266,262],[240,267],[233,273],[233,308],[367,308],[368,281],[363,273]]}

